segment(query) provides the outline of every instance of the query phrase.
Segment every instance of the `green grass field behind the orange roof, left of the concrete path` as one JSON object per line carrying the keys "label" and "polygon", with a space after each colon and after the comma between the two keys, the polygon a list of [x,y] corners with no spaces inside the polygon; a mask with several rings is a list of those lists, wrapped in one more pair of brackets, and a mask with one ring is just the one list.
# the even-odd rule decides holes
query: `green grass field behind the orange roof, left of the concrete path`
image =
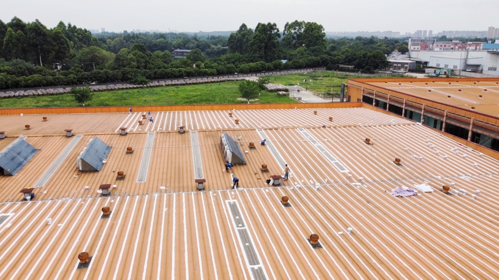
{"label": "green grass field behind the orange roof, left of the concrete path", "polygon": [[[224,82],[188,86],[157,87],[119,91],[97,92],[87,107],[97,106],[141,106],[141,105],[192,105],[192,104],[238,104],[238,82]],[[257,101],[251,103],[295,103],[289,97],[262,91]],[[48,108],[78,107],[70,94],[36,96],[0,100],[0,108]]]}

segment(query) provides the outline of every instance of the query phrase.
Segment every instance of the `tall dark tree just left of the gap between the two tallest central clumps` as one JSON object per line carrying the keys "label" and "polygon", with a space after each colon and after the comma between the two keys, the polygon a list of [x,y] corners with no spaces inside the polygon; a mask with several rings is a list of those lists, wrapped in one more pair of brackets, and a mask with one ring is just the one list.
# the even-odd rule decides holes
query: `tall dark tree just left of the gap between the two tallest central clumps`
{"label": "tall dark tree just left of the gap between the two tallest central clumps", "polygon": [[279,56],[279,28],[275,23],[258,23],[253,38],[248,43],[249,53],[260,60],[271,62]]}

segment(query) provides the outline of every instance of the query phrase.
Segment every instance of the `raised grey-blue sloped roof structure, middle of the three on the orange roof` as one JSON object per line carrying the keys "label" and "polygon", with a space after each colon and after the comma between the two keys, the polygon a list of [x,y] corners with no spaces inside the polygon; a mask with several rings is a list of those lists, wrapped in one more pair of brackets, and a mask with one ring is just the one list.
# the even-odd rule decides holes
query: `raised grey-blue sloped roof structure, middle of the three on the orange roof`
{"label": "raised grey-blue sloped roof structure, middle of the three on the orange roof", "polygon": [[94,137],[89,141],[87,146],[83,148],[76,159],[76,164],[78,168],[83,171],[100,171],[104,165],[104,160],[111,151],[111,147],[100,140],[98,137]]}

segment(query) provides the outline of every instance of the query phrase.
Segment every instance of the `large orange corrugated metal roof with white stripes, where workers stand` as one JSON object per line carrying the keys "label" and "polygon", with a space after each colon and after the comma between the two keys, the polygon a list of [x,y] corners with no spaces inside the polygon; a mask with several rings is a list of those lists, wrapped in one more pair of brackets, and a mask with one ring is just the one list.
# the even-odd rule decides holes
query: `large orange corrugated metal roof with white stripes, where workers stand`
{"label": "large orange corrugated metal roof with white stripes, where workers stand", "polygon": [[[14,132],[12,122],[38,120],[26,142],[40,148],[16,176],[0,176],[0,279],[496,278],[499,161],[368,108],[173,112],[177,119],[154,112],[155,123],[140,126],[128,113],[61,115],[78,131],[72,138],[46,124],[56,115],[43,123],[0,116]],[[197,132],[195,147],[191,133],[176,129],[180,116]],[[79,128],[92,118],[113,121]],[[0,149],[15,139],[5,130]],[[247,164],[228,173],[224,133],[240,148],[262,136],[269,144],[248,148]],[[96,136],[112,146],[107,161],[100,172],[80,172],[76,157]],[[281,162],[289,180],[270,187],[265,181],[283,174]],[[197,167],[205,191],[196,191]],[[34,200],[21,202],[19,190],[47,172],[53,175],[35,188]],[[239,189],[231,188],[232,176]],[[99,192],[102,184],[112,186],[109,196]],[[390,194],[423,184],[433,192]],[[79,264],[81,252],[89,263]]]}

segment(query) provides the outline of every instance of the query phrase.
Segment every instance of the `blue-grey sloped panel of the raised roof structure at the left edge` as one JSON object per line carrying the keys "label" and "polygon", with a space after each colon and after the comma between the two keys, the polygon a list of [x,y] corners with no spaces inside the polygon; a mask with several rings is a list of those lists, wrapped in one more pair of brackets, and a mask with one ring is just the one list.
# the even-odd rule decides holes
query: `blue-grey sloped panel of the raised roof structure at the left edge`
{"label": "blue-grey sloped panel of the raised roof structure at the left edge", "polygon": [[21,139],[0,155],[0,167],[14,175],[34,154],[38,152],[32,145]]}

